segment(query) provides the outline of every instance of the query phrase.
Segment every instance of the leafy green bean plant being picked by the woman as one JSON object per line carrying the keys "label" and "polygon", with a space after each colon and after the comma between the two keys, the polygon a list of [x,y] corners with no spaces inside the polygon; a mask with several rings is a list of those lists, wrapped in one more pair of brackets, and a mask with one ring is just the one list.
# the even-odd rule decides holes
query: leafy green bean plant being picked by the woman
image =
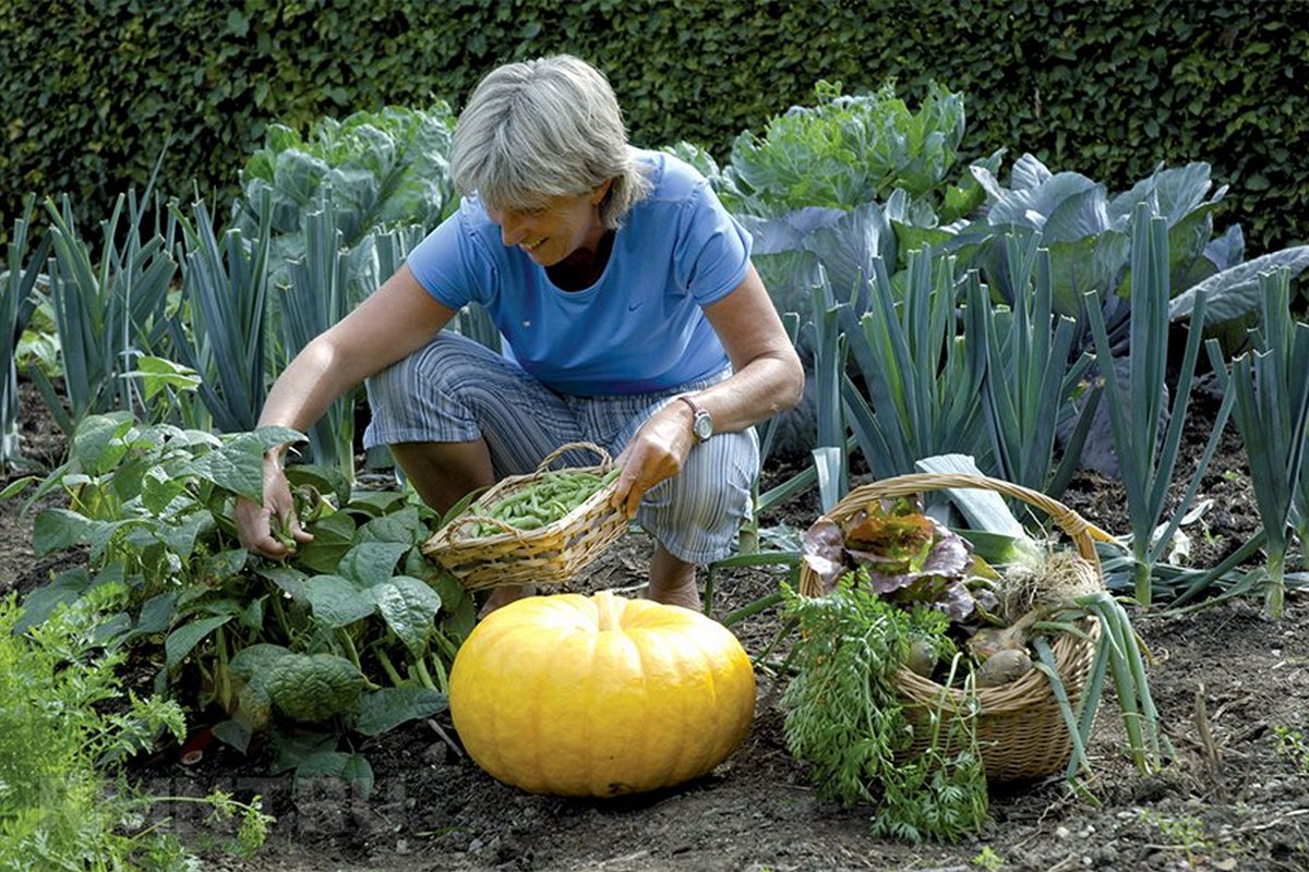
{"label": "leafy green bean plant being picked by the woman", "polygon": [[[86,566],[29,595],[22,625],[122,587],[103,642],[161,647],[156,686],[226,711],[220,739],[245,749],[264,731],[317,735],[314,771],[367,784],[367,761],[339,756],[336,737],[444,710],[473,601],[420,553],[429,510],[401,492],[352,493],[327,468],[288,469],[312,543],[284,562],[241,548],[233,501],[260,501],[263,452],[298,441],[283,428],[216,437],[88,417],[35,494],[60,490],[68,507],[41,511],[33,536],[42,556],[85,546]],[[310,698],[310,684],[330,692]]]}

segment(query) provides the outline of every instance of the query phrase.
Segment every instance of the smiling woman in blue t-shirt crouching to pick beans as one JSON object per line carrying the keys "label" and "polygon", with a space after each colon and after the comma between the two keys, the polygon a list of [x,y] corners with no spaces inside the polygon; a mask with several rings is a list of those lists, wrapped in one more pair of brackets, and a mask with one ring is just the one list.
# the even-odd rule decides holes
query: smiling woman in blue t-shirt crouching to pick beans
{"label": "smiling woman in blue t-shirt crouching to pick beans", "polygon": [[[609,82],[567,55],[478,85],[450,174],[458,212],[291,362],[259,424],[304,431],[368,379],[365,444],[389,444],[441,512],[565,442],[601,444],[622,468],[615,506],[654,540],[647,595],[699,609],[696,565],[730,553],[750,510],[750,428],[804,386],[749,235],[691,167],[631,148]],[[513,360],[442,332],[473,301]],[[264,460],[264,505],[236,511],[242,544],[274,558],[272,515],[309,539],[284,451]],[[495,588],[487,608],[530,592]]]}

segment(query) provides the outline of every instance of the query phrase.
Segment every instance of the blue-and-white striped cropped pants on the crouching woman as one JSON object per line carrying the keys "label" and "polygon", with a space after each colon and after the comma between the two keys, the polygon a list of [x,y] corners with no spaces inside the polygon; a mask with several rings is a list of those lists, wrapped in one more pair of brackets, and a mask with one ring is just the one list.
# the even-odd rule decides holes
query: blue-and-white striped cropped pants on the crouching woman
{"label": "blue-and-white striped cropped pants on the crouching woman", "polygon": [[[470,442],[483,438],[496,477],[533,472],[565,442],[593,442],[611,456],[645,420],[678,394],[730,374],[649,394],[572,396],[550,390],[514,361],[453,331],[368,379],[372,421],[365,447],[397,442]],[[567,465],[592,465],[569,451]],[[696,444],[682,471],[645,492],[636,520],[669,553],[704,565],[729,556],[750,518],[759,473],[754,428]]]}

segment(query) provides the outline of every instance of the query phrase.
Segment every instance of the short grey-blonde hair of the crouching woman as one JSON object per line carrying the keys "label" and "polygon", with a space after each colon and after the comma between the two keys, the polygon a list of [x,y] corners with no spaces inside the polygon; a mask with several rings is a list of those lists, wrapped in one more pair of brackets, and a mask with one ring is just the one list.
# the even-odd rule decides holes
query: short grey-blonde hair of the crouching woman
{"label": "short grey-blonde hair of the crouching woman", "polygon": [[614,89],[572,55],[491,71],[459,114],[450,176],[462,193],[476,191],[496,210],[539,208],[611,179],[600,204],[610,229],[651,188],[627,145]]}

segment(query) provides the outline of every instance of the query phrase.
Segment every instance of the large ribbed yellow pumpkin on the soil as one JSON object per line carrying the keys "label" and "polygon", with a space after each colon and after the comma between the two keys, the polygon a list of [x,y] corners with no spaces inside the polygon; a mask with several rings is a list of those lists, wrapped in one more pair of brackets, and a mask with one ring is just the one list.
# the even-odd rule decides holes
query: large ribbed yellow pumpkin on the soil
{"label": "large ribbed yellow pumpkin on the soil", "polygon": [[469,756],[535,794],[672,787],[730,754],[754,718],[750,658],[721,624],[602,591],[504,605],[450,668]]}

